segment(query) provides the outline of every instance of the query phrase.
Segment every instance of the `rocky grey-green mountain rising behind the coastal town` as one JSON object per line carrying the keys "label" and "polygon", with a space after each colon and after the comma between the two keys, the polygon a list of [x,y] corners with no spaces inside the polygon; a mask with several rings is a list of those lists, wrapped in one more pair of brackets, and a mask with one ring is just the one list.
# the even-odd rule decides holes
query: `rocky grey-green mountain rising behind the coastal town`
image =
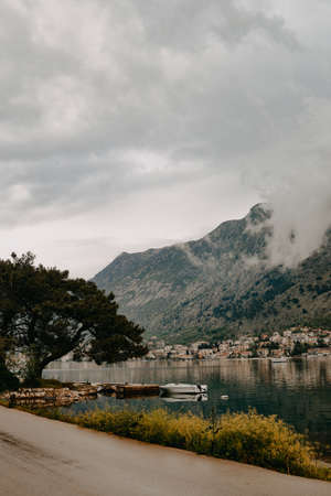
{"label": "rocky grey-green mountain rising behind the coastal town", "polygon": [[258,204],[196,241],[124,252],[94,281],[148,335],[170,341],[331,319],[331,233],[298,267],[270,267],[271,215]]}

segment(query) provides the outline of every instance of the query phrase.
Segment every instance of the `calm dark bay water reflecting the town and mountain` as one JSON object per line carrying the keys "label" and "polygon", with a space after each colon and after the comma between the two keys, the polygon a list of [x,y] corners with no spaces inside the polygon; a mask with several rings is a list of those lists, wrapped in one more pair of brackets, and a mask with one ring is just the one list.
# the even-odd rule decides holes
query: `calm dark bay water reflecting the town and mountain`
{"label": "calm dark bay water reflecting the town and mountain", "polygon": [[[129,362],[97,367],[89,363],[53,363],[45,378],[92,382],[195,382],[207,384],[206,401],[169,402],[158,397],[119,400],[99,397],[75,403],[73,412],[93,408],[127,407],[170,410],[211,416],[229,411],[277,414],[307,432],[311,440],[331,444],[331,357],[317,357],[275,364],[270,360]],[[228,395],[228,400],[222,400]]]}

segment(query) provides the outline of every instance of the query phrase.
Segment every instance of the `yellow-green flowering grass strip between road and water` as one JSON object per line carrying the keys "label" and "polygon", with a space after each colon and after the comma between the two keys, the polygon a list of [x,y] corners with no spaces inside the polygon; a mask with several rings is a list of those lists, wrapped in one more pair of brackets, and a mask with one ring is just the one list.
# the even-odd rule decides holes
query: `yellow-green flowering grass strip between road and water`
{"label": "yellow-green flowering grass strip between road and water", "polygon": [[226,413],[212,419],[175,414],[166,409],[94,410],[68,416],[60,410],[40,410],[43,417],[137,439],[164,446],[258,465],[278,472],[331,481],[331,470],[320,466],[317,451],[307,438],[276,416]]}

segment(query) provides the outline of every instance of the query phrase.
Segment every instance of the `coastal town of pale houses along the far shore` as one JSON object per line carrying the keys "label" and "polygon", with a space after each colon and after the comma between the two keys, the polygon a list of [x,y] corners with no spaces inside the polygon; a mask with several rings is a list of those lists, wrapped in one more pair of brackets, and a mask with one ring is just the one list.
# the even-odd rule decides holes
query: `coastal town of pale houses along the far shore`
{"label": "coastal town of pale houses along the far shore", "polygon": [[281,358],[331,355],[331,331],[306,326],[290,327],[259,336],[243,335],[216,343],[196,341],[190,345],[167,344],[152,336],[145,359],[216,359],[216,358]]}

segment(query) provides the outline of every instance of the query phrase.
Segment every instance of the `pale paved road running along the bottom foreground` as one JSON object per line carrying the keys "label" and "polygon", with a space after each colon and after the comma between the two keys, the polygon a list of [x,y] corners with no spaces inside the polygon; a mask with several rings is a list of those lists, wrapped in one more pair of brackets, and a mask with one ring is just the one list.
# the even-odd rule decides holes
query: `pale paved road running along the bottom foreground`
{"label": "pale paved road running along the bottom foreground", "polygon": [[330,496],[331,484],[0,407],[1,496]]}

